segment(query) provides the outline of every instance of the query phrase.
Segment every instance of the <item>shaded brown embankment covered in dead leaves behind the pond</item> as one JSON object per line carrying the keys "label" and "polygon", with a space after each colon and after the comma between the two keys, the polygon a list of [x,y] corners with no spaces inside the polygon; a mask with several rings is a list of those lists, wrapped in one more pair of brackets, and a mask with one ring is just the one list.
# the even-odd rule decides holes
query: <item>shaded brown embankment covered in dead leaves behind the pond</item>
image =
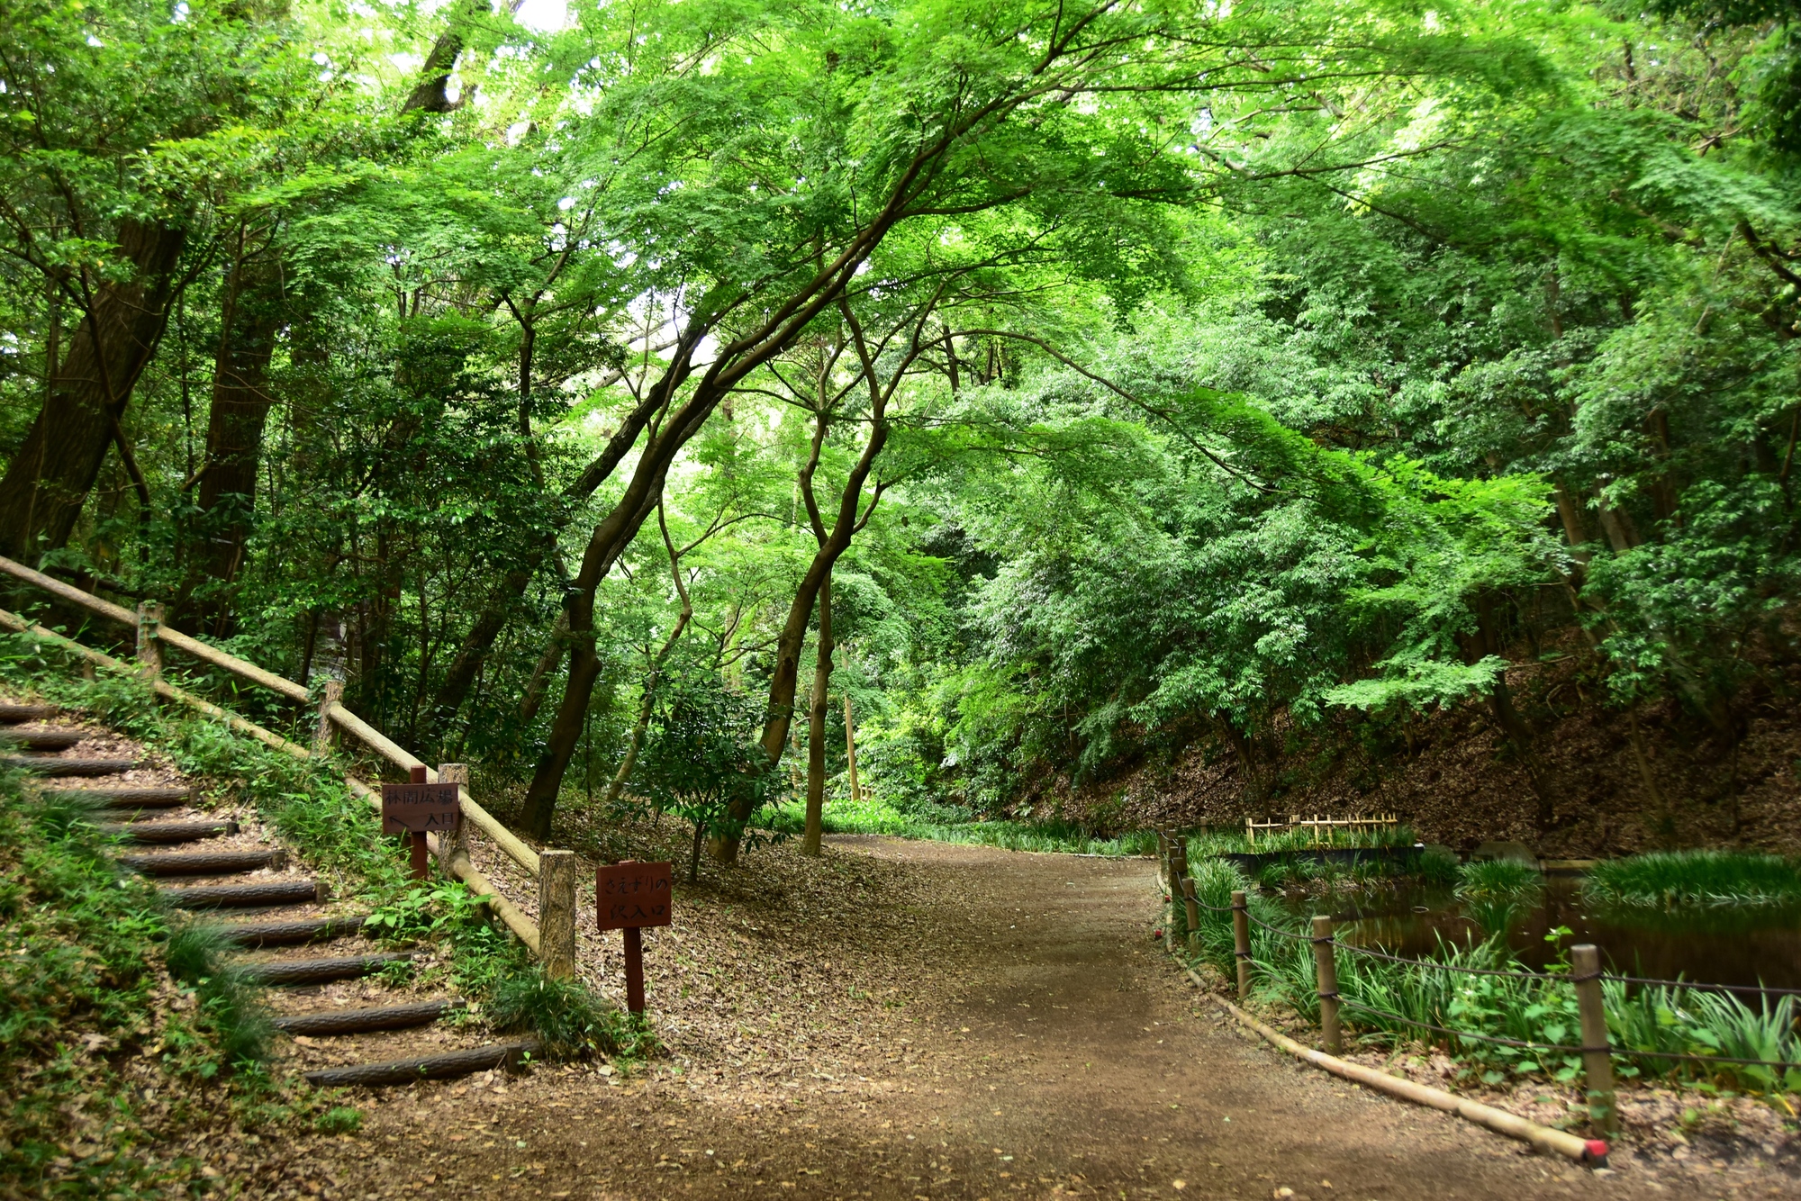
{"label": "shaded brown embankment covered in dead leaves behind the pond", "polygon": [[[1801,708],[1787,699],[1801,693],[1801,666],[1779,688],[1745,690],[1716,727],[1675,700],[1608,706],[1592,655],[1543,650],[1561,657],[1507,672],[1531,763],[1479,699],[1430,717],[1281,729],[1250,765],[1196,742],[1172,765],[1046,789],[1041,808],[1180,826],[1396,812],[1426,841],[1468,850],[1515,839],[1572,859],[1671,846],[1801,853]],[[1543,830],[1542,807],[1552,816]]]}

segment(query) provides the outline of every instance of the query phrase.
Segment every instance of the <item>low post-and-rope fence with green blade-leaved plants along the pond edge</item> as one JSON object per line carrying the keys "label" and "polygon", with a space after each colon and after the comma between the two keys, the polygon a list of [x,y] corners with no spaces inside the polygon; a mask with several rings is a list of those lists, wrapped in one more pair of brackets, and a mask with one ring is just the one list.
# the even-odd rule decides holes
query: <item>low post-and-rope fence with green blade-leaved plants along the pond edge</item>
{"label": "low post-and-rope fence with green blade-leaved plants along the pond edge", "polygon": [[[1569,960],[1551,971],[1509,967],[1511,953],[1497,940],[1444,944],[1446,960],[1392,954],[1340,940],[1329,917],[1315,917],[1306,933],[1284,927],[1237,868],[1208,861],[1196,873],[1180,837],[1160,835],[1158,844],[1171,902],[1167,947],[1189,962],[1234,965],[1239,999],[1261,974],[1266,992],[1320,1025],[1329,1053],[1342,1050],[1340,1008],[1360,1028],[1396,1041],[1428,1035],[1448,1050],[1488,1048],[1489,1062],[1511,1062],[1520,1073],[1581,1079],[1596,1133],[1617,1125],[1615,1066],[1628,1077],[1689,1070],[1731,1073],[1754,1091],[1801,1091],[1801,989],[1603,972],[1590,944],[1569,947]],[[1221,893],[1230,904],[1217,904]],[[1253,911],[1253,897],[1264,915]],[[1217,917],[1203,922],[1201,913]],[[1756,998],[1756,1008],[1742,998]],[[1531,1037],[1534,1030],[1543,1037]],[[1579,1041],[1565,1037],[1572,1032]]]}

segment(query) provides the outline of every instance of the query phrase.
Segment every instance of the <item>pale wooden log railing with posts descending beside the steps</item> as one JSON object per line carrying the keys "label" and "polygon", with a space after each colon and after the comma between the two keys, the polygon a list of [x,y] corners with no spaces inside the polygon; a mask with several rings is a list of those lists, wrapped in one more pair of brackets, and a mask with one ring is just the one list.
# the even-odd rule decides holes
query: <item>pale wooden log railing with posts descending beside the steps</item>
{"label": "pale wooden log railing with posts descending beside the steps", "polygon": [[[295,700],[299,704],[313,704],[313,697],[304,684],[295,684],[290,679],[285,679],[272,672],[265,672],[254,663],[247,663],[245,659],[223,652],[218,646],[209,646],[207,643],[202,643],[196,637],[189,637],[187,634],[171,630],[160,621],[160,607],[144,605],[137,612],[133,612],[130,609],[124,609],[122,605],[113,605],[112,601],[104,601],[99,596],[83,592],[81,589],[63,583],[61,580],[54,580],[40,571],[32,571],[23,564],[5,558],[4,555],[0,555],[0,574],[13,576],[14,580],[38,587],[45,592],[50,592],[52,596],[70,601],[72,605],[79,605],[81,609],[99,614],[110,621],[133,627],[137,630],[137,643],[139,643],[139,652],[137,652],[139,666],[135,670],[139,673],[149,675],[151,686],[155,688],[158,697],[166,697],[191,709],[205,713],[207,717],[218,718],[225,722],[231,729],[249,735],[250,738],[256,738],[263,745],[281,751],[283,754],[292,754],[294,758],[312,760],[312,758],[321,758],[330,751],[330,738],[321,738],[321,744],[312,749],[303,747],[297,742],[283,738],[281,735],[276,735],[268,729],[263,729],[261,726],[236,713],[231,713],[229,709],[223,709],[209,700],[202,700],[200,697],[164,681],[160,675],[162,648],[173,646],[175,650],[180,650],[195,659],[200,659],[202,663],[231,672],[232,675],[250,681],[252,684],[259,684],[261,688],[268,688],[270,691],[276,691],[286,697],[288,700]],[[83,646],[81,643],[63,634],[58,634],[56,630],[45,628],[41,625],[32,625],[25,618],[20,618],[18,614],[7,612],[4,609],[0,609],[0,627],[5,627],[18,634],[27,634],[38,641],[58,645],[99,666],[106,666],[115,672],[133,673],[131,666],[121,663],[119,659],[113,659],[112,655]],[[322,702],[319,702],[319,715],[321,718],[324,718],[322,729],[337,726],[342,731],[353,735],[358,742],[367,745],[371,751],[385,758],[394,767],[400,767],[402,771],[409,772],[414,767],[425,767],[425,778],[432,783],[438,781],[439,771],[421,763],[416,756],[409,754],[393,738],[389,738],[380,729],[376,729],[369,722],[351,713],[349,708],[346,708],[344,702],[339,700],[335,695],[328,695]],[[466,778],[466,771],[461,774]],[[344,776],[344,783],[351,789],[351,792],[355,792],[357,796],[367,799],[371,805],[380,808],[382,805],[380,789],[375,789],[349,774]],[[468,792],[466,780],[457,780],[457,805],[463,812],[465,826],[474,826],[475,830],[481,830],[490,839],[493,839],[493,843],[502,852],[506,852],[506,855],[513,862],[517,862],[533,877],[542,877],[538,853],[529,846],[526,846],[526,843],[522,843],[511,830],[501,825],[499,817],[495,817],[479,803],[475,803],[475,798],[470,796]],[[506,922],[508,929],[511,929],[520,942],[531,947],[533,954],[542,958],[546,965],[551,967],[557,974],[573,972],[575,965],[573,911],[569,915],[549,913],[548,909],[540,913],[540,917],[549,918],[549,927],[558,933],[558,936],[555,938],[558,945],[546,947],[540,926],[533,922],[529,917],[526,917],[513,902],[502,897],[501,891],[493,886],[493,880],[490,880],[475,868],[475,864],[470,861],[468,848],[461,843],[461,837],[457,839],[457,844],[448,844],[441,843],[438,835],[430,835],[429,843],[432,852],[438,855],[438,861],[443,866],[443,870],[454,875],[456,879],[463,880],[470,888],[470,891],[474,891],[477,897],[484,898],[488,906],[493,909],[493,913],[502,922]],[[546,889],[542,886],[542,879],[538,891],[540,891],[538,898],[540,909],[544,909],[546,904],[555,904],[557,908],[562,908],[564,904],[573,904],[566,902],[564,897],[560,895],[566,889]],[[569,942],[571,945],[560,945],[564,942]]]}

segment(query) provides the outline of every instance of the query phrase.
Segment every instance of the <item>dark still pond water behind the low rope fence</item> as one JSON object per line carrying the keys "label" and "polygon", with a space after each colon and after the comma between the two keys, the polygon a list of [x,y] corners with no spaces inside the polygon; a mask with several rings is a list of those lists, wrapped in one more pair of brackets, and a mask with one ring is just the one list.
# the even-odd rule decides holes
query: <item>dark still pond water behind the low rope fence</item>
{"label": "dark still pond water behind the low rope fence", "polygon": [[[1446,886],[1399,884],[1281,902],[1299,918],[1329,909],[1338,938],[1394,954],[1430,956],[1441,936],[1459,944],[1482,936],[1468,917],[1471,906]],[[1596,944],[1610,971],[1623,976],[1801,989],[1801,909],[1588,911],[1579,880],[1549,877],[1538,904],[1522,906],[1507,942],[1525,965],[1543,967],[1554,954],[1545,935],[1558,926],[1574,931],[1565,945]]]}

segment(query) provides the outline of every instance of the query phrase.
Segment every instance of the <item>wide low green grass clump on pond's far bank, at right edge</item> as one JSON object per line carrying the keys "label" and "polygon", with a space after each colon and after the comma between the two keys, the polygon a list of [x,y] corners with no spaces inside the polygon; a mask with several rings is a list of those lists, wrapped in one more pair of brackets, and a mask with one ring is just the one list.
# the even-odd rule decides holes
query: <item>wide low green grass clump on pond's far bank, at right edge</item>
{"label": "wide low green grass clump on pond's far bank, at right edge", "polygon": [[1731,850],[1653,852],[1597,862],[1583,888],[1610,906],[1788,906],[1801,904],[1801,864]]}

